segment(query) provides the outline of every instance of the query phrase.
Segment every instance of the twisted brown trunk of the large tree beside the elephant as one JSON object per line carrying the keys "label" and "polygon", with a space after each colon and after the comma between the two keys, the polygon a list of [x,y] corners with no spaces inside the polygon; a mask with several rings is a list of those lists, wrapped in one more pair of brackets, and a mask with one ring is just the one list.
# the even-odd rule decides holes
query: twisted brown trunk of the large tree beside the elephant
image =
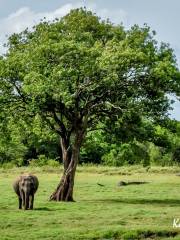
{"label": "twisted brown trunk of the large tree beside the elephant", "polygon": [[82,143],[83,134],[76,134],[74,143],[70,148],[69,141],[61,139],[62,157],[64,172],[56,190],[50,196],[54,201],[74,201],[73,188],[76,167],[79,159],[79,151]]}

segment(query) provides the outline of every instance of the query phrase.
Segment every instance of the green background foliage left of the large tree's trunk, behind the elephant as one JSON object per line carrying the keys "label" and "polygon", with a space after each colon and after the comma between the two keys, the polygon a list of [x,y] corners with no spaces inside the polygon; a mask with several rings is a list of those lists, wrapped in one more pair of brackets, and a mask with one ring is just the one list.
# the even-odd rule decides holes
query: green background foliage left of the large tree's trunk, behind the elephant
{"label": "green background foliage left of the large tree's trunk, behind the elephant", "polygon": [[49,158],[59,156],[56,134],[47,125],[44,126],[38,116],[31,121],[16,121],[12,116],[2,116],[0,125],[1,164],[11,161],[22,166],[27,165],[30,159],[38,158],[40,154]]}

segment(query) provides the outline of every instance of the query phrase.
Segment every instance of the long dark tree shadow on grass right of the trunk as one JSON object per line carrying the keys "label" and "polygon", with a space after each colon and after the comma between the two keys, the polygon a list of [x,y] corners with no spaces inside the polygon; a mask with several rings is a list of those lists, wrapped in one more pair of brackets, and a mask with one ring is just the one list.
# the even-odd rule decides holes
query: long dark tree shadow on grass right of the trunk
{"label": "long dark tree shadow on grass right of the trunk", "polygon": [[131,198],[120,198],[120,199],[97,199],[90,202],[102,202],[109,204],[155,204],[155,205],[173,205],[180,206],[180,199],[131,199]]}

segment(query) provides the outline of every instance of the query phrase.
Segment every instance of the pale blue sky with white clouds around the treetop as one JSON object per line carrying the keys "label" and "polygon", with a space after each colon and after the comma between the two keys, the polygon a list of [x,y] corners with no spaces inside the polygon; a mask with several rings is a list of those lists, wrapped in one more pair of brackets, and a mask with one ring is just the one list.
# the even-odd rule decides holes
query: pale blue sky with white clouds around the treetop
{"label": "pale blue sky with white clouds around the treetop", "polygon": [[[0,54],[7,36],[31,28],[43,17],[60,18],[71,9],[86,7],[114,24],[144,23],[155,30],[159,42],[169,43],[180,67],[180,0],[0,0]],[[175,102],[171,117],[180,120],[180,103]]]}

